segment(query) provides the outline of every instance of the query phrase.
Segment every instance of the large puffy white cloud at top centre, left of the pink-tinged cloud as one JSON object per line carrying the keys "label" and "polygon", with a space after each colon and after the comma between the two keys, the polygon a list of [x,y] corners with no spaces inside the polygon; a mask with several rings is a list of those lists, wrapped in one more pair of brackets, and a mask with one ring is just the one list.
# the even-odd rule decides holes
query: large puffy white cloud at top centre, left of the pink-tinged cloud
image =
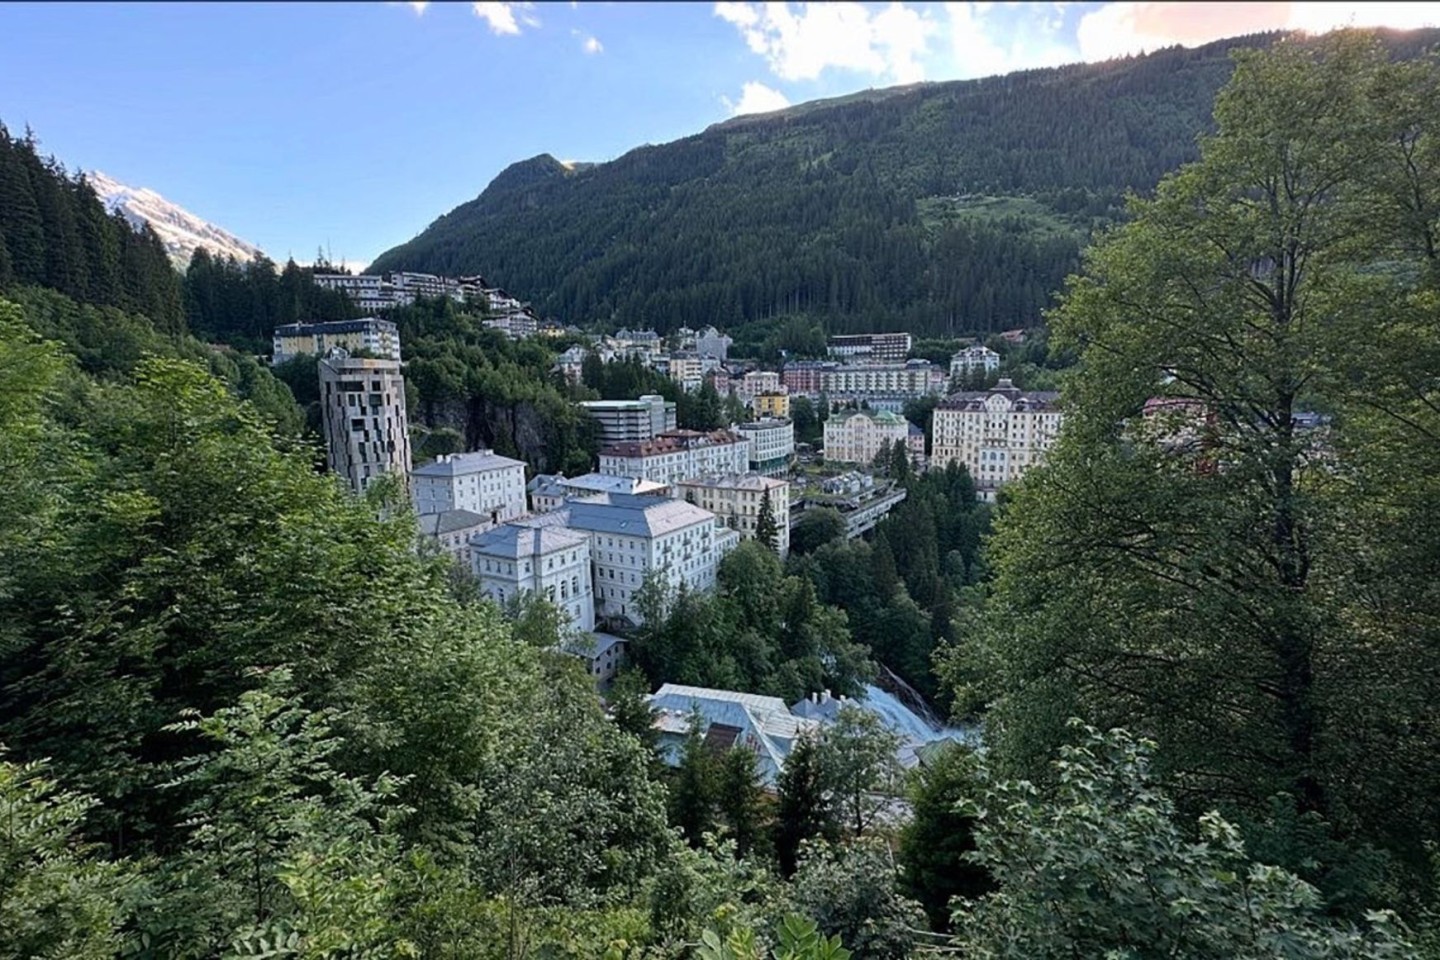
{"label": "large puffy white cloud at top centre, left of the pink-tinged cloud", "polygon": [[924,53],[936,22],[903,3],[873,12],[860,3],[716,3],[776,76],[812,81],[831,68],[899,83],[924,78]]}

